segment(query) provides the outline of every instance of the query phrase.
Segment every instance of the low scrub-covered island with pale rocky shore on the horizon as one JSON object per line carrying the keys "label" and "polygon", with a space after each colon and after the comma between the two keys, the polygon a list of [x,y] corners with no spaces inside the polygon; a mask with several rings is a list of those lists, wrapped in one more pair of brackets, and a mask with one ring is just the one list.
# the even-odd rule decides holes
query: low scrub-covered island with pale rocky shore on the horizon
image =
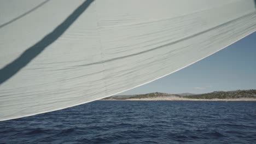
{"label": "low scrub-covered island with pale rocky shore on the horizon", "polygon": [[203,101],[256,101],[256,89],[237,91],[215,91],[211,93],[193,94],[168,94],[168,93],[147,93],[136,95],[114,95],[101,100],[203,100]]}

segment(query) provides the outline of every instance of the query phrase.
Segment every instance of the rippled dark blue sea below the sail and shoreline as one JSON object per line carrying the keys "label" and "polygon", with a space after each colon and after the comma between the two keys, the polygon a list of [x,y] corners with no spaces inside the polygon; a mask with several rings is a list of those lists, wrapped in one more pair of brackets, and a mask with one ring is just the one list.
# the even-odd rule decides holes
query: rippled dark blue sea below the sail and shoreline
{"label": "rippled dark blue sea below the sail and shoreline", "polygon": [[0,143],[256,143],[256,101],[94,101],[0,122]]}

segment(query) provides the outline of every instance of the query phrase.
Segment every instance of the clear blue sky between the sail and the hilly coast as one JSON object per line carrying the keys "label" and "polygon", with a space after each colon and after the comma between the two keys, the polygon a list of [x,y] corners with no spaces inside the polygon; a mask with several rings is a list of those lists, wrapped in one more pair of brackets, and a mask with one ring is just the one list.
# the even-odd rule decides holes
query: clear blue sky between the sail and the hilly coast
{"label": "clear blue sky between the sail and the hilly coast", "polygon": [[256,89],[256,32],[176,73],[119,95]]}

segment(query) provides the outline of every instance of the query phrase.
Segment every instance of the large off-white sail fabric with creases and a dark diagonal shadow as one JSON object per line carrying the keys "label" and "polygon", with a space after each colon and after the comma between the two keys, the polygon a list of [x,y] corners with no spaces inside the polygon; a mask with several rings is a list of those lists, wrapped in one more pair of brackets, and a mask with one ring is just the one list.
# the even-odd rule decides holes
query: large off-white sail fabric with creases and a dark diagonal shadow
{"label": "large off-white sail fabric with creases and a dark diagonal shadow", "polygon": [[253,0],[0,1],[0,121],[144,85],[255,30]]}

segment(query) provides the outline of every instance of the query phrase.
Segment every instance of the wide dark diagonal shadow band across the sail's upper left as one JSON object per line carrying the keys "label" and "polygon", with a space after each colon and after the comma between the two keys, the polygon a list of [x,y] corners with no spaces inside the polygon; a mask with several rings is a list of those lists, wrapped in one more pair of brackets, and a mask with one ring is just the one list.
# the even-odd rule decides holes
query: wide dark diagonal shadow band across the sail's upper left
{"label": "wide dark diagonal shadow band across the sail's upper left", "polygon": [[29,47],[13,62],[5,65],[5,67],[0,69],[0,85],[3,82],[10,79],[10,77],[15,75],[16,73],[18,73],[20,69],[25,67],[28,63],[30,63],[32,59],[39,55],[39,53],[41,53],[47,46],[49,46],[55,40],[57,40],[67,30],[67,28],[71,26],[75,20],[78,19],[78,17],[89,7],[89,5],[93,1],[94,0],[86,0],[77,9],[75,9],[73,13],[69,15],[65,21],[63,21],[59,26],[57,26],[53,32],[46,35],[43,39],[38,41],[38,43]]}

